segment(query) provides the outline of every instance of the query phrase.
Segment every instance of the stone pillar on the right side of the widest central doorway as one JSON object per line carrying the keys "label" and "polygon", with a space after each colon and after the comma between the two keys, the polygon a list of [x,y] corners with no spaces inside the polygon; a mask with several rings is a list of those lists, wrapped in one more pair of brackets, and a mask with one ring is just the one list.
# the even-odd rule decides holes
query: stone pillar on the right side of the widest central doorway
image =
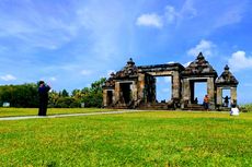
{"label": "stone pillar on the right side of the widest central doorway", "polygon": [[176,98],[180,99],[180,73],[177,71],[173,71],[172,73],[172,99]]}

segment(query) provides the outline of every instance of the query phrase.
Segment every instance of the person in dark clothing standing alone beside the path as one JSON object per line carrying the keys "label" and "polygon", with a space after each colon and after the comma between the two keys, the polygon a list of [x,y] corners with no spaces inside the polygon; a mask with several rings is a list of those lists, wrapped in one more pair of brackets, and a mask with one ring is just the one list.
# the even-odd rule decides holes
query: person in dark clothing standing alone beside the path
{"label": "person in dark clothing standing alone beside the path", "polygon": [[50,86],[46,85],[44,81],[39,81],[38,96],[39,96],[39,108],[38,116],[46,116],[47,104],[48,104],[48,92]]}

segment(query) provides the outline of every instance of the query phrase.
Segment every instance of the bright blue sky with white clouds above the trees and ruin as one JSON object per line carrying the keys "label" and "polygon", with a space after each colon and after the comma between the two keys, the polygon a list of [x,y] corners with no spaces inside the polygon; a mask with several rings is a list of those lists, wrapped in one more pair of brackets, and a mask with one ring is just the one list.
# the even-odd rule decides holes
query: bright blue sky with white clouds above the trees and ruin
{"label": "bright blue sky with white clouds above the trees and ruin", "polygon": [[[251,0],[0,0],[0,85],[83,88],[129,58],[180,62],[202,51],[252,102]],[[161,83],[159,94],[169,93]]]}

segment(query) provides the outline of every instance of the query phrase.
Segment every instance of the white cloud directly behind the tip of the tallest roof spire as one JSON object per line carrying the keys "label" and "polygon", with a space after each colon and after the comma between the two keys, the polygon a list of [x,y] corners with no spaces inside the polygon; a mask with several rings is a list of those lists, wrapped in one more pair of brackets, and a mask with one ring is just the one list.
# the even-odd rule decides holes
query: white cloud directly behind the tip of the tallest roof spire
{"label": "white cloud directly behind the tip of the tallest roof spire", "polygon": [[187,51],[187,55],[196,57],[199,52],[203,52],[204,56],[209,57],[213,55],[213,49],[215,47],[216,45],[210,40],[202,39],[198,45]]}

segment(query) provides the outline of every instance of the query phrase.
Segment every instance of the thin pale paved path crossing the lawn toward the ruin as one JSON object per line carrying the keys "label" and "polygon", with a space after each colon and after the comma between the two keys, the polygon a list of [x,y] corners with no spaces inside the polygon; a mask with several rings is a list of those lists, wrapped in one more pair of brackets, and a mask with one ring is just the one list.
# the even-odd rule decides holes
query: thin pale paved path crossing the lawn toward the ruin
{"label": "thin pale paved path crossing the lawn toward the ruin", "polygon": [[60,118],[60,117],[76,117],[76,116],[94,116],[94,115],[115,115],[125,112],[140,112],[148,110],[122,110],[122,111],[107,111],[107,112],[89,112],[89,114],[68,114],[68,115],[53,115],[53,116],[16,116],[16,117],[2,117],[2,120],[22,120],[22,119],[43,119],[43,118]]}

